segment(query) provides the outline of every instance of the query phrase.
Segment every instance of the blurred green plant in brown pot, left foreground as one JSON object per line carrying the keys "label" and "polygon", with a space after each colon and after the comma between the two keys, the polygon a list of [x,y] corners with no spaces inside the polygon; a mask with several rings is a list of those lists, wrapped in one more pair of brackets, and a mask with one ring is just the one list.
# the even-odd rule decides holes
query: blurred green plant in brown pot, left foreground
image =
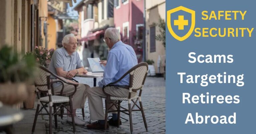
{"label": "blurred green plant in brown pot, left foreground", "polygon": [[36,76],[36,61],[30,55],[19,60],[7,45],[0,49],[0,101],[14,105],[27,98],[26,82]]}

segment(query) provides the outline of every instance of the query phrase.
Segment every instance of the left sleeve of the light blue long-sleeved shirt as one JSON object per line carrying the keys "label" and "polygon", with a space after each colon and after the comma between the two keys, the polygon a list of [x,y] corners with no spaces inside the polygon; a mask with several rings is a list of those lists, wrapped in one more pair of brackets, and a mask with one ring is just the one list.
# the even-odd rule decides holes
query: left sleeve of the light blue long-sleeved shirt
{"label": "left sleeve of the light blue long-sleeved shirt", "polygon": [[113,79],[118,71],[119,71],[118,58],[114,53],[109,53],[107,58],[107,64],[104,69],[103,79],[98,83],[99,87],[103,87],[103,85],[107,85],[113,82]]}

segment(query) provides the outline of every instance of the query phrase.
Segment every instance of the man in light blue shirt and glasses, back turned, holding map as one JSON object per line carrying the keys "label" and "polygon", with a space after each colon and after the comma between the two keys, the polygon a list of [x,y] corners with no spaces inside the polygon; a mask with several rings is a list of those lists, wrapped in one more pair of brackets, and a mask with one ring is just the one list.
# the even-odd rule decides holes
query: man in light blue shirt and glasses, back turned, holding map
{"label": "man in light blue shirt and glasses, back turned, holding map", "polygon": [[[120,41],[120,33],[116,28],[108,28],[105,31],[104,41],[110,48],[107,61],[101,61],[105,67],[103,79],[99,82],[99,87],[93,87],[88,89],[88,103],[90,109],[91,120],[98,120],[92,124],[88,124],[89,129],[104,129],[105,114],[103,111],[102,98],[106,98],[103,93],[103,85],[107,85],[121,78],[129,69],[138,64],[138,60],[133,48]],[[104,88],[107,94],[128,97],[129,90],[125,87],[129,85],[129,75],[124,77],[121,81]],[[136,95],[136,92],[132,92],[132,97]],[[117,110],[116,107],[111,107],[110,110]],[[113,117],[108,121],[109,125],[118,126],[117,112],[112,113]],[[121,125],[121,122],[120,122]]]}

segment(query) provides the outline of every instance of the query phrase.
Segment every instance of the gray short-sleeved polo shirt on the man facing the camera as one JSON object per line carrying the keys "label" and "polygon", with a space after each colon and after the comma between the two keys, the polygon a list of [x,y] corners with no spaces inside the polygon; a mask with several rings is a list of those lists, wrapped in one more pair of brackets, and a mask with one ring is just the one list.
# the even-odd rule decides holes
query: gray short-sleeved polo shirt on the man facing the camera
{"label": "gray short-sleeved polo shirt on the man facing the camera", "polygon": [[[77,68],[84,67],[78,52],[74,52],[71,55],[68,54],[64,47],[54,51],[52,59],[48,69],[57,75],[56,68],[63,68],[63,71],[70,71]],[[53,76],[51,76],[54,78]],[[54,87],[60,86],[60,83],[54,84]]]}

